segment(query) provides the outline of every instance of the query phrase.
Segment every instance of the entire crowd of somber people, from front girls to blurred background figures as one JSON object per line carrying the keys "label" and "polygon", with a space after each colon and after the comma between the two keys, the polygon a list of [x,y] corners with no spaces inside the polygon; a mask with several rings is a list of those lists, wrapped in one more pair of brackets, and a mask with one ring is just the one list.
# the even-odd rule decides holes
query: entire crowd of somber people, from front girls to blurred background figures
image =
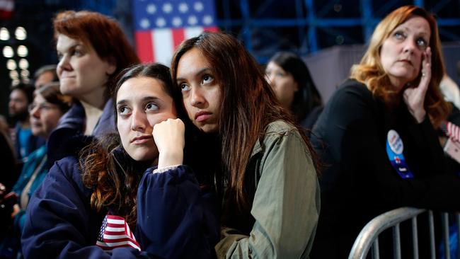
{"label": "entire crowd of somber people, from front girls to blurred background figures", "polygon": [[1,124],[0,258],[347,258],[383,212],[460,209],[439,130],[460,113],[422,8],[389,13],[327,103],[301,57],[264,71],[227,33],[167,67],[100,13],[53,26],[58,64]]}

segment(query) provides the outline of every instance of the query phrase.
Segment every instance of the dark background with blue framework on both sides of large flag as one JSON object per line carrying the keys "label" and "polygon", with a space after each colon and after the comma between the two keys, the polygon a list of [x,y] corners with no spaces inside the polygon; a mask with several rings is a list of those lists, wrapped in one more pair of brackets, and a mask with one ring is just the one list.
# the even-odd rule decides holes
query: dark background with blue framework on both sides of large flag
{"label": "dark background with blue framework on both sides of large flag", "polygon": [[[140,1],[140,0],[132,0]],[[91,10],[115,17],[132,40],[132,1],[129,0],[16,0],[13,16],[0,20],[10,31],[10,40],[1,41],[0,49],[11,45],[28,47],[30,77],[44,64],[56,64],[52,40],[52,18],[63,10]],[[179,0],[170,0],[179,1]],[[438,17],[443,43],[460,42],[460,1],[384,1],[384,0],[216,0],[217,25],[241,39],[261,64],[277,50],[291,50],[312,57],[338,45],[363,45],[374,26],[399,6],[423,6]],[[14,30],[22,26],[28,38],[14,39]],[[18,61],[15,55],[13,59]],[[0,53],[0,114],[7,114],[11,79],[6,57]],[[457,82],[458,83],[458,82]]]}

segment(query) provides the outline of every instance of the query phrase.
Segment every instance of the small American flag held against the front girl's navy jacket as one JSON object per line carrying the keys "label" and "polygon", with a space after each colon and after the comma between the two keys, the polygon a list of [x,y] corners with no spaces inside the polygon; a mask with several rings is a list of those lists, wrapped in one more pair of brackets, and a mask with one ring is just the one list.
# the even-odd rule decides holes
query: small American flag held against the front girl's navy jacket
{"label": "small American flag held against the front girl's navy jacket", "polygon": [[137,243],[125,219],[110,214],[105,215],[102,226],[100,226],[96,246],[105,251],[112,251],[113,248],[119,247],[132,247],[141,251],[139,243]]}

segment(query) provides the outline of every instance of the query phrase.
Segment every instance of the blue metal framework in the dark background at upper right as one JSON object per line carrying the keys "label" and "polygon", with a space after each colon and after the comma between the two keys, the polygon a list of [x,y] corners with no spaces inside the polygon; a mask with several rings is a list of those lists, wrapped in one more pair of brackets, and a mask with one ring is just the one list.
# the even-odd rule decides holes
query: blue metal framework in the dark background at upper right
{"label": "blue metal framework in the dark background at upper right", "polygon": [[[280,49],[306,55],[332,45],[363,44],[381,18],[406,4],[422,6],[435,13],[443,41],[460,41],[460,1],[284,0],[280,3],[277,0],[217,1],[218,25],[237,35],[261,63]],[[286,10],[294,11],[285,17]],[[293,28],[296,33],[283,33]],[[260,35],[260,31],[264,33]],[[289,44],[286,45],[286,41]]]}

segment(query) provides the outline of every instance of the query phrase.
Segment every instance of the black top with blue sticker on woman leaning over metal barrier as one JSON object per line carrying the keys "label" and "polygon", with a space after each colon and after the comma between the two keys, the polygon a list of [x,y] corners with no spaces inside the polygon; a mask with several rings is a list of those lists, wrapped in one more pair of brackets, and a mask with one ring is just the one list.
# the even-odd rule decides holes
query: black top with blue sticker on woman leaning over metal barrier
{"label": "black top with blue sticker on woman leaning over metal barrier", "polygon": [[[414,178],[403,179],[391,166],[386,154],[391,129],[403,141]],[[460,179],[447,169],[435,129],[428,118],[418,124],[403,100],[390,110],[364,84],[347,80],[313,133],[312,143],[326,168],[312,258],[347,258],[364,225],[390,209],[460,209]]]}

